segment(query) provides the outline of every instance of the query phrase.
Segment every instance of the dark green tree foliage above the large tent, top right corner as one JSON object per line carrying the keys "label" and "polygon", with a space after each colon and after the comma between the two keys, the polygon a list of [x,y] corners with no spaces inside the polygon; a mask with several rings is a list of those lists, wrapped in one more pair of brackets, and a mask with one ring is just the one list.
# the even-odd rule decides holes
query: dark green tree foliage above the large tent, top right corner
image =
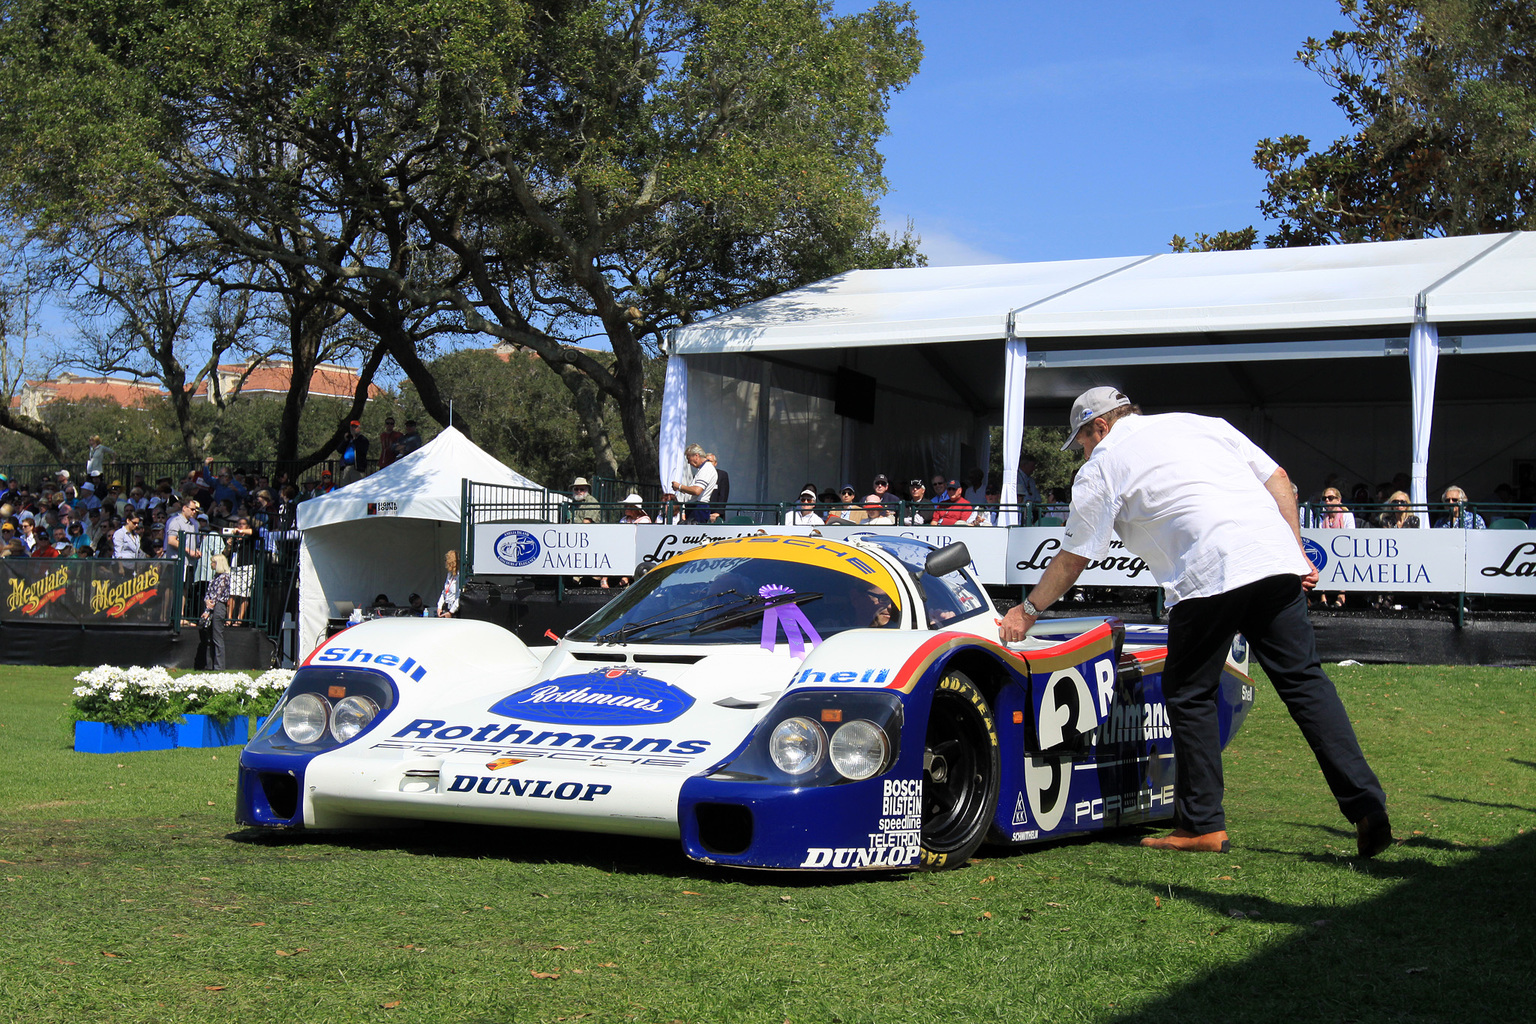
{"label": "dark green tree foliage above the large tent, top right corner", "polygon": [[1258,143],[1269,246],[1536,227],[1536,8],[1525,0],[1341,0],[1353,28],[1296,55],[1352,134]]}

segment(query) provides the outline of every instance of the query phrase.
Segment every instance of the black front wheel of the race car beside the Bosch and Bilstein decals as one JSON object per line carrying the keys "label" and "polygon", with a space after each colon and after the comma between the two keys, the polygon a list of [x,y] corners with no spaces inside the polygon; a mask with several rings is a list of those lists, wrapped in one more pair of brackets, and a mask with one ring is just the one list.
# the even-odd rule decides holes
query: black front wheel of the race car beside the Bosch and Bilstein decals
{"label": "black front wheel of the race car beside the Bosch and Bilstein decals", "polygon": [[958,867],[986,838],[1000,768],[992,709],[965,672],[946,672],[934,691],[923,743],[925,870]]}

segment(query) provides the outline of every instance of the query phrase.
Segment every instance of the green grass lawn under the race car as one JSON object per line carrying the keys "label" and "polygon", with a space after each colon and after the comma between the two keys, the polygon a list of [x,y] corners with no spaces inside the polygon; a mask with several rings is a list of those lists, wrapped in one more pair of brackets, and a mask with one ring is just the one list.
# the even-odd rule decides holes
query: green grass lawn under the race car
{"label": "green grass lawn under the race car", "polygon": [[1230,855],[1137,832],[857,877],[492,827],[247,832],[237,748],[75,754],[72,674],[0,669],[0,1019],[1530,1019],[1527,671],[1333,671],[1402,840],[1375,861],[1261,686]]}

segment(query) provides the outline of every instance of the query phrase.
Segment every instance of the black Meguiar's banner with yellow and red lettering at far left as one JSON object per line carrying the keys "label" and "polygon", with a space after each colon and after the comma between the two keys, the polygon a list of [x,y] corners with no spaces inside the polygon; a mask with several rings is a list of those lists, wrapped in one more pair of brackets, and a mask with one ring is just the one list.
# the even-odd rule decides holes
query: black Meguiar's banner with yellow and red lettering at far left
{"label": "black Meguiar's banner with yellow and red lettering at far left", "polygon": [[175,562],[0,559],[0,622],[169,626]]}

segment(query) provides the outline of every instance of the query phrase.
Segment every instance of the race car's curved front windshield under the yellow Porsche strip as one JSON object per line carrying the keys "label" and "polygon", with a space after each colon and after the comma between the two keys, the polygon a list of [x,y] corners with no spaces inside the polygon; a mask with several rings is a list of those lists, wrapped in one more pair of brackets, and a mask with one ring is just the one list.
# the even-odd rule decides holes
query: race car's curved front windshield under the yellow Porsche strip
{"label": "race car's curved front windshield under the yellow Porsche strip", "polygon": [[[745,553],[674,557],[634,582],[570,633],[573,640],[751,643],[799,631],[823,640],[845,629],[897,628],[902,606],[889,574],[848,571]],[[768,622],[765,625],[765,616]],[[809,629],[806,629],[809,626]]]}

